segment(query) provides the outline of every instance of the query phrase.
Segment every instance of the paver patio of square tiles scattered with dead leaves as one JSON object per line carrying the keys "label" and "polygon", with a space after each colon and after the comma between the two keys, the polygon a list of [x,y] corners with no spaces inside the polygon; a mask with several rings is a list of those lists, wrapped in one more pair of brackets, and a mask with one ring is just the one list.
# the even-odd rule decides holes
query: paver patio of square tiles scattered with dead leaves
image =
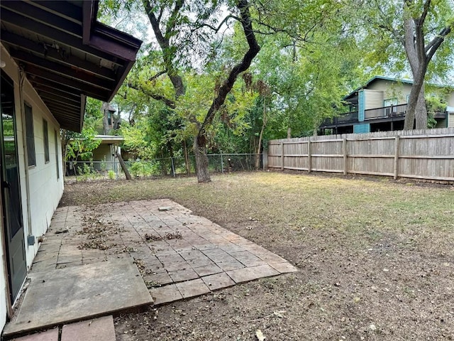
{"label": "paver patio of square tiles scattered with dead leaves", "polygon": [[155,305],[297,271],[171,200],[58,208],[31,269],[133,257]]}

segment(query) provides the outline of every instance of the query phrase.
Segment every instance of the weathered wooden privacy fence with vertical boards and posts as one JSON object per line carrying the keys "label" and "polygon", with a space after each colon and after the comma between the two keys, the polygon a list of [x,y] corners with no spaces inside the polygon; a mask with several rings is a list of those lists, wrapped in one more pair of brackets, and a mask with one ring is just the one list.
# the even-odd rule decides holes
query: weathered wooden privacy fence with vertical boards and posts
{"label": "weathered wooden privacy fence with vertical boards and posts", "polygon": [[282,171],[454,181],[454,128],[272,140],[267,163]]}

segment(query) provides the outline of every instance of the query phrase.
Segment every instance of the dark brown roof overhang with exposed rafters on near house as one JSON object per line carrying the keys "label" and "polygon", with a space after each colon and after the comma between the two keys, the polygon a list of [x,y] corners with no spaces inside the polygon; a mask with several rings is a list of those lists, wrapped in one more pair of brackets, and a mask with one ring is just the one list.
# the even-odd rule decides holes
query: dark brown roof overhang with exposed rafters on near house
{"label": "dark brown roof overhang with exposed rafters on near house", "polygon": [[97,0],[0,1],[0,40],[63,129],[81,131],[86,97],[110,102],[141,40],[96,21]]}

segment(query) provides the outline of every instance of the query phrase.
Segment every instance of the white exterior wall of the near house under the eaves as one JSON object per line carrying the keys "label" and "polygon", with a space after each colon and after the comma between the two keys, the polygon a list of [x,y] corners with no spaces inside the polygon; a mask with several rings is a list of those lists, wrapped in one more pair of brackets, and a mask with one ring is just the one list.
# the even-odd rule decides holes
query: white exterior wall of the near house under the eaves
{"label": "white exterior wall of the near house under the eaves", "polygon": [[[19,87],[18,66],[11,59],[3,45],[1,48],[1,60],[6,63],[2,71],[8,75],[14,83],[14,104],[16,114],[16,126],[18,136],[18,167],[21,181],[21,202],[23,210],[23,233],[26,250],[27,269],[38,251],[37,238],[43,235],[49,227],[52,215],[57,208],[58,202],[63,194],[63,173],[60,141],[60,126],[49,112],[33,87],[25,80],[23,82],[22,96]],[[28,168],[26,152],[24,148],[23,113],[21,97],[24,102],[32,107],[33,131],[35,139],[36,166]],[[43,119],[48,122],[49,161],[45,162],[44,141],[43,141]],[[55,133],[57,134],[57,148],[55,148]],[[57,151],[57,153],[56,153]],[[57,176],[58,163],[58,176]],[[28,246],[28,235],[35,236],[35,244]],[[1,233],[1,242],[5,243],[4,231]],[[2,244],[4,245],[4,244]],[[0,328],[3,329],[6,323],[7,298],[7,264],[4,247],[1,247],[0,257]]]}

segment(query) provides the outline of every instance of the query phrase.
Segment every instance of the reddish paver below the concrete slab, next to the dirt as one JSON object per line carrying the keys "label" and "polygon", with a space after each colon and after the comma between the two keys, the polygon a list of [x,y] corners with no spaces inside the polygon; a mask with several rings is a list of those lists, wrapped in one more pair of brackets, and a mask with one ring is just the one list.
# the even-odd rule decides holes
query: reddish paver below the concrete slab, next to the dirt
{"label": "reddish paver below the concrete slab, next to the dirt", "polygon": [[112,315],[63,325],[61,341],[116,341]]}

